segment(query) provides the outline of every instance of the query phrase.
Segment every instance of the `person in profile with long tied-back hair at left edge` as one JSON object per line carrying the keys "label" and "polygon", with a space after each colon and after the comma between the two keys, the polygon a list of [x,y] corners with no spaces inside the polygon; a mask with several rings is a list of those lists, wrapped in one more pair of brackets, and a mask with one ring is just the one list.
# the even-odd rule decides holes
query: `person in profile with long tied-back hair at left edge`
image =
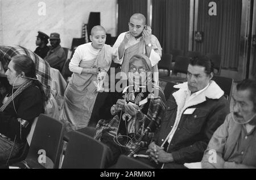
{"label": "person in profile with long tied-back hair at left edge", "polygon": [[44,112],[47,99],[30,57],[11,58],[6,76],[12,88],[0,101],[0,164],[6,164],[26,143],[31,125]]}

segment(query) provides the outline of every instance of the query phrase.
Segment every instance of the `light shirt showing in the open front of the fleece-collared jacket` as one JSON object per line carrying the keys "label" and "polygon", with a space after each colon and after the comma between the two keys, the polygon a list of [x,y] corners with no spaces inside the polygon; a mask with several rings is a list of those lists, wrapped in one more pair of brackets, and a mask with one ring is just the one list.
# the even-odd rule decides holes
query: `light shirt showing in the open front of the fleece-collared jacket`
{"label": "light shirt showing in the open front of the fleece-collared jacket", "polygon": [[176,115],[176,120],[175,120],[175,123],[174,123],[174,127],[172,128],[171,132],[167,136],[169,144],[170,144],[170,142],[172,140],[172,137],[174,137],[176,129],[177,129],[178,125],[179,125],[181,115],[183,114],[183,111],[187,108],[186,104],[189,101],[191,101],[193,98],[196,98],[198,95],[203,93],[203,91],[205,91],[209,87],[209,85],[210,85],[210,83],[208,83],[208,85],[206,87],[204,87],[204,89],[202,89],[200,91],[197,91],[196,93],[193,93],[193,94],[191,94],[191,91],[188,88],[187,88],[187,90],[185,90],[185,97],[184,97],[183,105],[181,107],[177,108],[177,115]]}

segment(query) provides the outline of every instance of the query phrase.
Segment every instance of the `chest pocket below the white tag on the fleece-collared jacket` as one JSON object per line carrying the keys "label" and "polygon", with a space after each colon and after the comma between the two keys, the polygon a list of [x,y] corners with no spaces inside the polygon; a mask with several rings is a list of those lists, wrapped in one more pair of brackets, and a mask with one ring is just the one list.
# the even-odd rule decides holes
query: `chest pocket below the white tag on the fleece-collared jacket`
{"label": "chest pocket below the white tag on the fleece-collared jacket", "polygon": [[191,134],[199,133],[207,118],[208,111],[209,110],[206,109],[196,108],[193,114],[185,115],[187,116],[183,124],[183,128],[185,129],[185,131]]}

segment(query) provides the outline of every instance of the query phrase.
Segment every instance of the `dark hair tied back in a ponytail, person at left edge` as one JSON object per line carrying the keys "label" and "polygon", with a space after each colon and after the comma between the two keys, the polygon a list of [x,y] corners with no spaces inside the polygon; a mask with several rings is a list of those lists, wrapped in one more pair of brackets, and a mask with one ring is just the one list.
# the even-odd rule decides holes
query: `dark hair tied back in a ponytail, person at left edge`
{"label": "dark hair tied back in a ponytail, person at left edge", "polygon": [[[30,57],[26,55],[18,55],[11,58],[11,61],[13,61],[14,63],[13,69],[16,71],[17,75],[22,74],[22,72],[24,72],[24,76],[37,79],[35,63]],[[46,94],[44,93],[42,83],[34,79],[32,79],[32,81],[35,84],[35,86],[39,87],[42,93],[43,102],[47,101],[48,99],[46,97]]]}

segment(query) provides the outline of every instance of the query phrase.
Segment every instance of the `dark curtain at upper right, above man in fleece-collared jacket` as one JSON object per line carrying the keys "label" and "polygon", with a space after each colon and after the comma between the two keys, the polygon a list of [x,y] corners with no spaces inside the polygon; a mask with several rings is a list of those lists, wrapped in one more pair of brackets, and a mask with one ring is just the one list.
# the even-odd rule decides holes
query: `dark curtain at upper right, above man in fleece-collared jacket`
{"label": "dark curtain at upper right, above man in fleece-collared jacket", "polygon": [[204,32],[202,43],[196,43],[194,50],[203,55],[221,55],[224,69],[238,69],[240,52],[240,30],[242,0],[216,0],[217,15],[210,16],[209,2],[199,0],[197,31]]}

